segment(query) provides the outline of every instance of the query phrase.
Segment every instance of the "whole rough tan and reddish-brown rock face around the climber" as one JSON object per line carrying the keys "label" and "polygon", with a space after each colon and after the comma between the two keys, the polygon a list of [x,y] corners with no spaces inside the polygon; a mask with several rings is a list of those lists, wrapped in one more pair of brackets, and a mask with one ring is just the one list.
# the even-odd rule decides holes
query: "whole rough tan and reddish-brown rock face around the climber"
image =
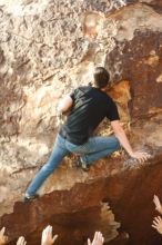
{"label": "whole rough tan and reddish-brown rock face around the climber", "polygon": [[[83,244],[95,229],[109,242],[119,226],[110,244],[160,244],[151,220],[153,194],[162,197],[162,1],[1,0],[0,32],[0,226],[11,244],[39,244],[49,222],[58,244]],[[132,145],[153,159],[139,166],[119,153],[82,173],[68,157],[40,189],[48,194],[22,206],[52,149],[58,100],[92,82],[98,65],[110,70]],[[103,121],[95,134],[111,133]]]}

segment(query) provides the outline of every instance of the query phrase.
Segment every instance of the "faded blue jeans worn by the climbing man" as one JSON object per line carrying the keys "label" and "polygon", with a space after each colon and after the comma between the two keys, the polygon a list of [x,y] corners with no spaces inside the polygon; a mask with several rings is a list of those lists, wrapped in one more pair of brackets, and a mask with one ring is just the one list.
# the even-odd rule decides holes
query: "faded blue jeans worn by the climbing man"
{"label": "faded blue jeans worn by the climbing man", "polygon": [[78,146],[58,135],[49,160],[36,175],[26,194],[29,196],[34,195],[47,177],[53,173],[60,161],[70,153],[80,154],[82,161],[91,164],[119,148],[120,144],[115,137],[92,137],[83,145]]}

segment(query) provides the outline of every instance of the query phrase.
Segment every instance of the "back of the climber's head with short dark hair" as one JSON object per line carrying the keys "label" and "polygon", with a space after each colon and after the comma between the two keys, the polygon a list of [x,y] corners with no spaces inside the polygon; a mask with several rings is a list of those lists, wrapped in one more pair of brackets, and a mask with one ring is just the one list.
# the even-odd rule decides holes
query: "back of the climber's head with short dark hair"
{"label": "back of the climber's head with short dark hair", "polygon": [[103,67],[97,67],[93,77],[94,77],[94,86],[97,88],[107,87],[110,80],[110,74]]}

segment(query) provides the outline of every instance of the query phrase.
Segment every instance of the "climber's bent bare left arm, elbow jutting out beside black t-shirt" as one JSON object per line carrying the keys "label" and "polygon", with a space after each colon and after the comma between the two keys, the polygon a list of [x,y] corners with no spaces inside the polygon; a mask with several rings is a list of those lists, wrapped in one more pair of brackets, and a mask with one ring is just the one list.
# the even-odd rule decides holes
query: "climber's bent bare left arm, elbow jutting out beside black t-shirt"
{"label": "climber's bent bare left arm, elbow jutting out beside black t-shirt", "polygon": [[70,97],[70,95],[64,96],[64,98],[59,101],[59,105],[57,108],[58,112],[60,112],[60,114],[68,112],[70,110],[70,108],[72,107],[72,102],[73,102],[73,100]]}

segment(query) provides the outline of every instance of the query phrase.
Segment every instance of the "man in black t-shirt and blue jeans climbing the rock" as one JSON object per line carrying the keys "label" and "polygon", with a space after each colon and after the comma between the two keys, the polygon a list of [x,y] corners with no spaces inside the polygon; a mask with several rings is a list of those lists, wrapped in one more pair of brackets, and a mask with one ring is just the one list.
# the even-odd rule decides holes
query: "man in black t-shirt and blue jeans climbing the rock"
{"label": "man in black t-shirt and blue jeans climbing the rock", "polygon": [[[79,87],[60,102],[60,114],[69,111],[67,121],[59,130],[48,163],[29,185],[24,200],[36,198],[39,187],[69,153],[78,154],[75,164],[84,170],[88,170],[93,161],[118,150],[120,145],[132,158],[146,160],[145,153],[132,149],[120,125],[118,108],[105,94],[110,81],[109,72],[103,67],[97,67],[93,77],[94,86]],[[110,120],[115,136],[92,137],[94,129],[105,117]]]}

